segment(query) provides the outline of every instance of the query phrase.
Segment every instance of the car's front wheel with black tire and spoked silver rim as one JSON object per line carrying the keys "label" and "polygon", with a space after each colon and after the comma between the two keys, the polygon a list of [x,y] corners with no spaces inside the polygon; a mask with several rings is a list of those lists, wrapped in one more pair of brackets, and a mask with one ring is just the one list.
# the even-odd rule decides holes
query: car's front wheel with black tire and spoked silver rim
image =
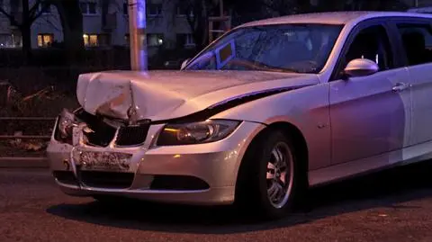
{"label": "car's front wheel with black tire and spoked silver rim", "polygon": [[247,148],[242,160],[236,203],[248,214],[281,219],[293,211],[297,195],[304,190],[305,176],[292,140],[281,130],[266,130]]}

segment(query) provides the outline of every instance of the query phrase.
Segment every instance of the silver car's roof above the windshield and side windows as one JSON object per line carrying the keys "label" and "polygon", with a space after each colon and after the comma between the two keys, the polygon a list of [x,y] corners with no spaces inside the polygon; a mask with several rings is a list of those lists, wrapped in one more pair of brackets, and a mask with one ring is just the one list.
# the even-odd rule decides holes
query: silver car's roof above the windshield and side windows
{"label": "silver car's roof above the windshield and side windows", "polygon": [[347,24],[349,22],[360,22],[377,17],[426,17],[432,18],[432,14],[409,13],[409,12],[329,12],[329,13],[305,13],[293,14],[283,17],[247,22],[241,27],[260,26],[284,23],[324,23],[324,24]]}

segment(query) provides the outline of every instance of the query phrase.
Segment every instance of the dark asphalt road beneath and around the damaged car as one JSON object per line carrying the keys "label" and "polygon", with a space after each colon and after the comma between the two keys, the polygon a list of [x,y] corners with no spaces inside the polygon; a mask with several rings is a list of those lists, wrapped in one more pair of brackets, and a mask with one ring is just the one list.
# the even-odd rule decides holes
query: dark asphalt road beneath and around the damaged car
{"label": "dark asphalt road beneath and around the damaged car", "polygon": [[432,162],[311,191],[284,220],[232,207],[103,206],[59,192],[46,170],[0,169],[0,241],[432,241]]}

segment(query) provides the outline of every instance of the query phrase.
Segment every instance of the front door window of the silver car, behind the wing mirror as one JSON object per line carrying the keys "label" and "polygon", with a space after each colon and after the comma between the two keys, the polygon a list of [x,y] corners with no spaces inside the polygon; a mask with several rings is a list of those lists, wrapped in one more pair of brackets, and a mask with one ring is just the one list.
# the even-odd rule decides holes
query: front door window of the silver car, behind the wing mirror
{"label": "front door window of the silver car, behind the wing mirror", "polygon": [[345,56],[343,68],[356,58],[373,60],[380,71],[394,67],[390,40],[382,25],[371,26],[357,33]]}

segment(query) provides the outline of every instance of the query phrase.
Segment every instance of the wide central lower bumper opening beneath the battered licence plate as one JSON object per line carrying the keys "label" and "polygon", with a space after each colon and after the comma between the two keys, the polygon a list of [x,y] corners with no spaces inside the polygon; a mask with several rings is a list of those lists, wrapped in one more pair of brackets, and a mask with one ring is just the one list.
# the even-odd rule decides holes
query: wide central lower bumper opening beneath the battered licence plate
{"label": "wide central lower bumper opening beneath the battered licence plate", "polygon": [[79,172],[81,182],[90,187],[124,189],[133,183],[133,173]]}

